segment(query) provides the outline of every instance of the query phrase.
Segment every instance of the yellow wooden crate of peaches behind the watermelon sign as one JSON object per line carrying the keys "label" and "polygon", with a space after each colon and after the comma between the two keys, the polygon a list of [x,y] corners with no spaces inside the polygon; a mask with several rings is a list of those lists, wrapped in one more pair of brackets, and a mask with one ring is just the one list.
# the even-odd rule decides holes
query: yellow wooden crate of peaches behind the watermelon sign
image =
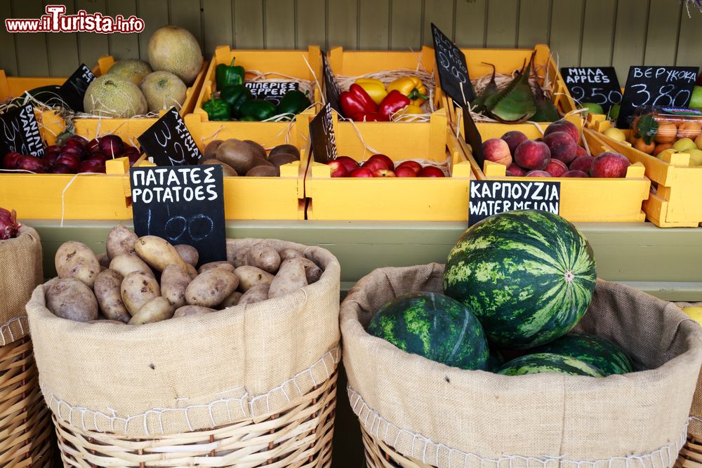
{"label": "yellow wooden crate of peaches behind the watermelon sign", "polygon": [[[548,123],[536,126],[511,126],[510,130],[522,131],[529,138],[539,138]],[[490,123],[478,123],[478,131],[483,141],[500,138],[503,128]],[[541,128],[541,130],[539,130]],[[593,156],[612,151],[611,147],[585,131],[585,142]],[[485,161],[481,168],[470,152],[470,146],[459,140],[473,166],[479,180],[530,180],[534,178],[507,177],[507,167],[503,164]],[[642,201],[649,196],[651,181],[644,176],[644,166],[635,163],[629,166],[626,177],[605,178],[539,178],[561,182],[560,214],[572,222],[643,222]]]}

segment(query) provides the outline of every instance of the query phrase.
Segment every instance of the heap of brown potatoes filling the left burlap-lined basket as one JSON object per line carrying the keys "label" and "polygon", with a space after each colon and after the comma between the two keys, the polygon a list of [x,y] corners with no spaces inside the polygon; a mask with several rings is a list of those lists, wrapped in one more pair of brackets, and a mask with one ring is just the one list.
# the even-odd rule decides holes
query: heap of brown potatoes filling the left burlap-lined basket
{"label": "heap of brown potatoes filling the left burlap-lined basket", "polygon": [[110,231],[106,245],[107,255],[100,260],[81,242],[58,248],[58,279],[46,289],[46,306],[53,314],[74,321],[143,325],[282,297],[318,281],[323,273],[305,253],[291,248],[278,252],[265,241],[237,250],[232,262],[206,263],[199,269],[192,246],[137,237],[123,226]]}

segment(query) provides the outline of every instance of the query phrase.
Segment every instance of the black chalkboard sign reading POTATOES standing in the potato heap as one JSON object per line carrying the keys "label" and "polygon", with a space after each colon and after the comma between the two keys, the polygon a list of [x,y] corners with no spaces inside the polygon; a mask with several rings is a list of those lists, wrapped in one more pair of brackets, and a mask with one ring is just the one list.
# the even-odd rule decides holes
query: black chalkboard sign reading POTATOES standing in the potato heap
{"label": "black chalkboard sign reading POTATOES standing in the potato heap", "polygon": [[131,168],[137,236],[197,248],[200,264],[227,260],[222,166]]}

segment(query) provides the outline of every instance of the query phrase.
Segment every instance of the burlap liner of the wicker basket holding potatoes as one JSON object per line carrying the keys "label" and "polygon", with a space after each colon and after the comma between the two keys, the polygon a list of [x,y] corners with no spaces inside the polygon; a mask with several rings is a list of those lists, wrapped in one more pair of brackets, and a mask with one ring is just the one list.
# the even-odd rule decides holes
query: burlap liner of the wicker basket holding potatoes
{"label": "burlap liner of the wicker basket holding potatoes", "polygon": [[[227,257],[258,239],[227,240]],[[39,381],[55,417],[86,430],[158,436],[265,417],[329,379],[340,360],[340,266],[314,254],[322,278],[256,304],[147,326],[59,319],[38,286],[27,304]]]}

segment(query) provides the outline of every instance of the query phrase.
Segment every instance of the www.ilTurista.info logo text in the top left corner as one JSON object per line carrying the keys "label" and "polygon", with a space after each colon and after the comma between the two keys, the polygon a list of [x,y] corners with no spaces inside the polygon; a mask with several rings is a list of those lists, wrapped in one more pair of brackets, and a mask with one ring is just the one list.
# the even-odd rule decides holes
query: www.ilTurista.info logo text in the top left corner
{"label": "www.ilTurista.info logo text in the top left corner", "polygon": [[144,20],[131,15],[114,18],[100,13],[87,13],[80,10],[75,15],[66,15],[65,5],[47,5],[46,15],[41,18],[13,18],[5,20],[7,32],[113,32],[131,33],[144,30]]}

